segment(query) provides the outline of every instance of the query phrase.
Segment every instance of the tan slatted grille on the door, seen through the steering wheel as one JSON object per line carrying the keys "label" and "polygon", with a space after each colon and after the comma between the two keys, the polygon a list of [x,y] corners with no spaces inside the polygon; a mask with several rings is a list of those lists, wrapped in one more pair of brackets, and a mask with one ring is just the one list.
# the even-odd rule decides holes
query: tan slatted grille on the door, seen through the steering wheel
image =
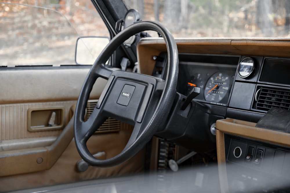
{"label": "tan slatted grille on the door, seen through the steering wheel", "polygon": [[[90,115],[92,114],[98,100],[88,100],[87,104],[87,112],[85,116],[85,121],[88,120]],[[121,123],[115,119],[108,118],[102,126],[96,131],[96,133],[108,133],[108,132],[117,132],[120,130]]]}

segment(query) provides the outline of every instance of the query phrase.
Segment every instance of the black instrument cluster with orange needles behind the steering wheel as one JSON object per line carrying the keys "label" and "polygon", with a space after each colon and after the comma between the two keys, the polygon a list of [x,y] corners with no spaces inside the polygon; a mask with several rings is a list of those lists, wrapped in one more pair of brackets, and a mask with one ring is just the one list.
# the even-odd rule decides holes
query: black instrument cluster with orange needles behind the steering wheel
{"label": "black instrument cluster with orange needles behind the steering wheel", "polygon": [[183,62],[179,63],[178,92],[188,95],[194,87],[200,88],[195,100],[226,106],[237,64]]}

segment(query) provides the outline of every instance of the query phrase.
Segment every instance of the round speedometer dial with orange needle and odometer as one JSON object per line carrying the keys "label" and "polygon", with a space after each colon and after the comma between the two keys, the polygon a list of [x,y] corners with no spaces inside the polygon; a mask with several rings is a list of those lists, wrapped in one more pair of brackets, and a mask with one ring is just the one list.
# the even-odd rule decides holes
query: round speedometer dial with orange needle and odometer
{"label": "round speedometer dial with orange needle and odometer", "polygon": [[214,73],[206,82],[204,88],[204,98],[206,101],[220,102],[228,92],[230,78],[224,72]]}

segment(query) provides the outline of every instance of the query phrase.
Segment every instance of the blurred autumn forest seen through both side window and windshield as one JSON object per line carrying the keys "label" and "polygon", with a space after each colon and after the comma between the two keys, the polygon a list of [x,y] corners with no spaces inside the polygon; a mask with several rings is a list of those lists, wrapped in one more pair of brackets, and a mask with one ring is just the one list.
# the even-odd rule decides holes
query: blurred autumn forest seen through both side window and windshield
{"label": "blurred autumn forest seen through both side window and windshield", "polygon": [[[1,1],[3,66],[75,64],[79,36],[109,36],[90,0]],[[174,37],[290,37],[290,0],[123,1],[142,20],[163,23]]]}

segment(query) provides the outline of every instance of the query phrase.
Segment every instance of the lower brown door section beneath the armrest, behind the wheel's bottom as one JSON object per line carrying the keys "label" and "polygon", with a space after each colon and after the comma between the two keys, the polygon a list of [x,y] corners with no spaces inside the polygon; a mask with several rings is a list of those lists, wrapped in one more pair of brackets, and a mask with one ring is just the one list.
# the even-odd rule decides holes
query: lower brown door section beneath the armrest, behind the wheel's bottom
{"label": "lower brown door section beneath the armrest, behind the wheel's bottom", "polygon": [[[104,151],[106,155],[102,159],[109,158],[118,154],[125,147],[125,141],[128,141],[131,132],[130,126],[122,126],[122,130],[119,133],[93,135],[87,145],[93,154]],[[106,145],[100,146],[99,144]],[[71,141],[50,170],[0,177],[0,192],[142,172],[144,170],[145,154],[144,150],[142,150],[130,161],[119,166],[112,168],[89,166],[85,172],[77,171],[76,163],[80,159],[81,157],[77,153],[75,143]]]}

